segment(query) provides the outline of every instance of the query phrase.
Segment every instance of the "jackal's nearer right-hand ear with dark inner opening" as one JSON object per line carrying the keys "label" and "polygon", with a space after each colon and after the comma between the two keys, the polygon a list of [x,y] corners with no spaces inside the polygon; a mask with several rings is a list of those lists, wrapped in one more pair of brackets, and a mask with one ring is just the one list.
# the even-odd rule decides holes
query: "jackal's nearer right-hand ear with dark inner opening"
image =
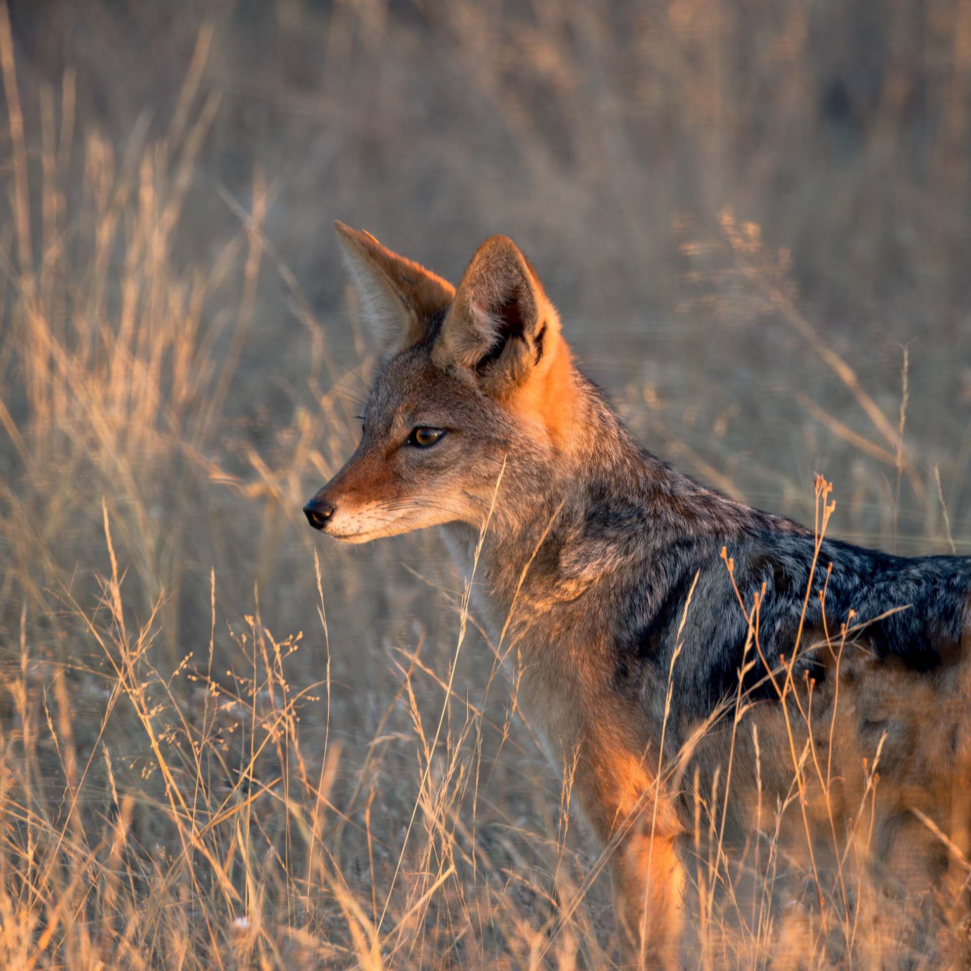
{"label": "jackal's nearer right-hand ear with dark inner opening", "polygon": [[508,236],[487,239],[462,277],[432,350],[440,367],[472,369],[497,397],[549,372],[559,318],[529,261]]}

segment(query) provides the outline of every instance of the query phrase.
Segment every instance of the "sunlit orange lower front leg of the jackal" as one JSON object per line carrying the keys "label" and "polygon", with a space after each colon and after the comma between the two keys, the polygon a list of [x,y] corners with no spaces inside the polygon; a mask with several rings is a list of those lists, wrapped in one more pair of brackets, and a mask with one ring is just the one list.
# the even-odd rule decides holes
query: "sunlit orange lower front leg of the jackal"
{"label": "sunlit orange lower front leg of the jackal", "polygon": [[639,825],[619,849],[614,877],[621,966],[677,968],[685,870],[675,837]]}

